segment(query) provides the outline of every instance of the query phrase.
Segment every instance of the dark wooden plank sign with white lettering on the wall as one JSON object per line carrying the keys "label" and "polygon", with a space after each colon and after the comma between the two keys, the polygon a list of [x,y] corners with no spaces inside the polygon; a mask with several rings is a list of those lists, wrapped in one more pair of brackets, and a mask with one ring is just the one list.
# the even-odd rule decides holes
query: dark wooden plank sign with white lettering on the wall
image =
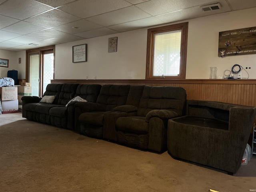
{"label": "dark wooden plank sign with white lettering on the wall", "polygon": [[219,32],[219,57],[244,54],[256,54],[256,27]]}

